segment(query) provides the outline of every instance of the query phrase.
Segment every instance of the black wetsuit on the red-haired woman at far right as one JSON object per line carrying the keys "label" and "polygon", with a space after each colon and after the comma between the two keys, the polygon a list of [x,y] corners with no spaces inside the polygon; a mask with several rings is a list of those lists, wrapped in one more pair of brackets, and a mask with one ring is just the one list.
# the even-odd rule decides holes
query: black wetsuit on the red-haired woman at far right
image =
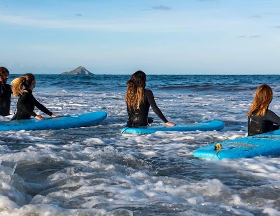
{"label": "black wetsuit on the red-haired woman at far right", "polygon": [[[248,136],[263,134],[279,129],[280,117],[271,110],[266,110],[263,116],[256,117],[257,111],[248,118]],[[275,124],[275,125],[274,125]]]}

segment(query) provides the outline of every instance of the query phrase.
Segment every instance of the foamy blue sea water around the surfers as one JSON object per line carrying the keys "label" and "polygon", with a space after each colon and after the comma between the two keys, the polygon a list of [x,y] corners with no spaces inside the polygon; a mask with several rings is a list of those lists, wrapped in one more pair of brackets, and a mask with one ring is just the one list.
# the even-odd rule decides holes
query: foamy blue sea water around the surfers
{"label": "foamy blue sea water around the surfers", "polygon": [[[92,127],[1,132],[0,215],[280,215],[278,157],[192,156],[201,146],[246,136],[246,113],[261,83],[272,87],[269,108],[280,115],[280,76],[148,75],[146,88],[168,120],[225,122],[221,131],[149,135],[120,133],[129,77],[36,75],[33,94],[54,114],[108,116]],[[1,120],[12,117],[16,101]],[[152,109],[149,115],[163,124]]]}

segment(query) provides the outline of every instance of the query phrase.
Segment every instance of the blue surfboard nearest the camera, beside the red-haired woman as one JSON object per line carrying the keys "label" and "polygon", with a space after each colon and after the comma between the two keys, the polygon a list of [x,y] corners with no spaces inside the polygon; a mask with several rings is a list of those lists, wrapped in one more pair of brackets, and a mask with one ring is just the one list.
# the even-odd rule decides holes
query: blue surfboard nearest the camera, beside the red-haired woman
{"label": "blue surfboard nearest the camera, beside the red-haired woman", "polygon": [[256,156],[279,156],[280,155],[280,130],[265,134],[238,138],[219,142],[220,150],[215,150],[213,143],[198,148],[193,156],[202,159],[237,159],[253,158]]}

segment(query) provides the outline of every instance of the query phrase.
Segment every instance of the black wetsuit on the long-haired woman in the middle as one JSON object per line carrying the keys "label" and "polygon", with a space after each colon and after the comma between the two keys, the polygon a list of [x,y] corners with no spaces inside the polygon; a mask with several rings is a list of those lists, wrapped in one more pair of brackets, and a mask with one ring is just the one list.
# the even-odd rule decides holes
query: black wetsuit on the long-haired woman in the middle
{"label": "black wetsuit on the long-haired woman in the middle", "polygon": [[147,126],[148,125],[148,113],[150,106],[154,110],[154,112],[157,114],[157,116],[164,121],[164,123],[167,122],[167,119],[164,117],[160,109],[157,107],[153,92],[149,89],[144,90],[144,103],[142,103],[139,107],[139,109],[136,109],[135,111],[131,109],[131,111],[127,107],[127,113],[128,113],[128,121],[126,124],[126,127],[141,127],[141,126]]}

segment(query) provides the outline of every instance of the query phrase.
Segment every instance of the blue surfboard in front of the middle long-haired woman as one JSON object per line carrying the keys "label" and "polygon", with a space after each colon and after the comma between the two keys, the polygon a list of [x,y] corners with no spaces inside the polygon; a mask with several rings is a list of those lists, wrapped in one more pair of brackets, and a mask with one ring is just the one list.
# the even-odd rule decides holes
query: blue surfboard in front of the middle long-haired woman
{"label": "blue surfboard in front of the middle long-haired woman", "polygon": [[139,128],[123,128],[122,133],[126,134],[152,134],[157,131],[213,131],[221,130],[225,124],[220,120],[191,123],[181,126],[147,126]]}

